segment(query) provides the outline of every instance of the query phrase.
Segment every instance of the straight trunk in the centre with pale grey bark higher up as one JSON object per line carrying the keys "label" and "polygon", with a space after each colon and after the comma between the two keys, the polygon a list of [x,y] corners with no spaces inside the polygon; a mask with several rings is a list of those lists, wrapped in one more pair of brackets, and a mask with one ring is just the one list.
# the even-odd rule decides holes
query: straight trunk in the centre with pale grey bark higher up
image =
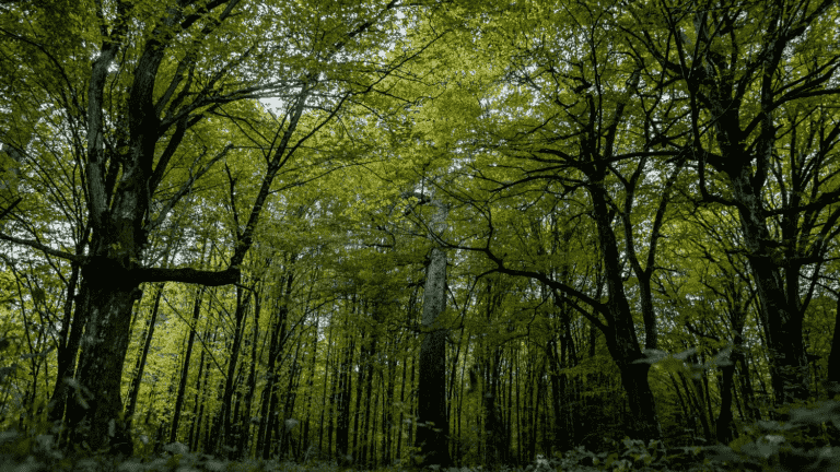
{"label": "straight trunk in the centre with pale grey bark higher up", "polygon": [[420,344],[418,423],[416,445],[422,465],[447,467],[450,422],[446,416],[446,338],[441,315],[446,308],[446,252],[440,244],[446,229],[448,209],[431,200],[436,211],[430,225],[432,252],[423,288],[423,340]]}

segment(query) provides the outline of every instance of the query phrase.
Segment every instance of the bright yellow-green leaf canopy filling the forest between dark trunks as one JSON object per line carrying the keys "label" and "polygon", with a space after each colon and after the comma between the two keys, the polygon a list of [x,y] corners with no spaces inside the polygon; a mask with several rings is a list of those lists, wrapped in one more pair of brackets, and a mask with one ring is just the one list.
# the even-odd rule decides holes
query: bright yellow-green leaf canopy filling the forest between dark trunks
{"label": "bright yellow-green leaf canopy filling the forest between dark trunks", "polygon": [[[172,33],[162,46],[164,58],[154,80],[155,99],[173,86],[166,101],[159,104],[163,110],[160,118],[184,111],[184,117],[194,119],[164,169],[160,188],[149,196],[149,219],[163,215],[161,209],[182,188],[185,194],[168,216],[164,215],[160,231],[151,233],[147,260],[135,262],[223,268],[246,228],[248,210],[262,184],[259,177],[278,155],[279,140],[287,131],[291,133],[292,148],[280,154],[282,165],[261,203],[264,213],[240,281],[254,291],[262,307],[256,322],[252,304],[243,327],[246,344],[259,346],[257,358],[252,362],[243,349],[235,374],[237,379],[246,378],[254,364],[257,397],[269,385],[266,344],[280,323],[277,314],[281,310],[285,318],[278,332],[287,338],[278,358],[284,363],[271,375],[282,385],[279,394],[299,398],[295,411],[289,414],[301,416],[304,398],[308,402],[306,414],[315,417],[326,413],[328,418],[335,414],[330,410],[335,406],[330,382],[340,362],[336,358],[345,355],[343,351],[353,356],[355,361],[348,368],[353,385],[358,385],[363,365],[358,359],[362,349],[372,345],[372,338],[380,343],[375,357],[369,354],[373,357],[374,393],[384,396],[385,385],[409,369],[422,339],[417,329],[421,311],[418,300],[422,299],[424,258],[432,247],[427,225],[433,209],[422,204],[415,192],[433,188],[436,198],[451,206],[444,238],[450,257],[450,306],[444,318],[445,326],[453,329],[447,352],[453,408],[460,402],[459,420],[474,422],[459,432],[465,458],[478,460],[480,448],[487,446],[487,432],[475,421],[482,413],[481,397],[460,388],[468,376],[463,373],[477,364],[486,369],[488,380],[498,382],[494,393],[506,400],[505,409],[517,413],[520,408],[523,412],[538,410],[539,415],[534,416],[544,416],[505,420],[511,430],[529,433],[518,430],[518,424],[532,421],[522,429],[539,429],[546,426],[539,421],[553,418],[551,389],[556,386],[551,381],[562,378],[562,384],[557,384],[563,388],[563,393],[558,393],[558,410],[587,421],[586,426],[563,423],[570,434],[578,434],[574,440],[596,448],[626,433],[622,414],[627,399],[619,387],[620,373],[606,347],[608,333],[590,338],[596,331],[593,326],[612,322],[595,309],[598,303],[611,302],[611,294],[605,287],[604,241],[597,233],[592,194],[607,200],[607,227],[621,253],[619,288],[627,292],[632,310],[628,322],[630,331],[634,329],[639,335],[639,345],[645,320],[639,309],[642,285],[630,250],[635,251],[640,268],[653,270],[658,350],[650,351],[641,362],[653,365],[649,380],[665,432],[685,433],[679,438],[685,441],[707,439],[698,432],[699,426],[687,424],[684,413],[702,415],[713,423],[721,413],[722,369],[732,366],[735,354],[742,354],[749,368],[744,371],[738,367],[735,388],[748,381],[755,385],[754,398],[743,401],[752,403],[761,414],[790,410],[771,412],[768,408],[773,359],[766,357],[767,327],[755,297],[756,282],[747,263],[752,249],[745,249],[743,244],[742,220],[736,209],[702,201],[698,196],[700,163],[692,148],[705,145],[710,153],[721,152],[714,117],[703,106],[692,110],[689,95],[710,101],[714,88],[710,84],[725,74],[745,81],[738,95],[740,108],[732,108],[736,115],[748,119],[766,113],[759,107],[760,87],[749,76],[760,68],[743,67],[738,61],[754,60],[751,56],[733,52],[738,47],[759,50],[770,34],[761,26],[770,16],[765,16],[757,4],[724,2],[709,12],[712,20],[737,11],[744,17],[733,16],[730,25],[723,20],[710,23],[721,27],[718,33],[730,32],[696,51],[707,57],[701,68],[691,70],[697,74],[711,72],[708,82],[691,92],[690,84],[673,74],[682,67],[691,68],[695,58],[679,57],[668,42],[701,44],[697,31],[701,21],[698,12],[668,2],[642,1],[627,8],[590,1],[420,2],[410,8],[399,3],[399,9],[383,11],[371,20],[375,27],[370,34],[350,39],[347,33],[378,15],[384,3],[241,2],[229,21],[215,24],[221,19],[220,9],[200,12],[202,2],[191,2],[184,13],[197,14],[197,20],[180,32],[161,23],[167,14],[166,2],[129,3],[130,27],[113,38],[125,43],[106,78],[107,103],[102,107],[107,122],[103,139],[116,154],[109,162],[122,160],[127,152],[129,131],[121,121],[128,113],[131,71],[155,28]],[[0,7],[0,210],[19,194],[25,198],[14,217],[0,223],[3,233],[26,234],[61,250],[78,245],[79,253],[84,253],[90,249],[84,247],[84,238],[90,236],[82,232],[90,224],[90,194],[83,190],[88,143],[83,135],[86,118],[82,117],[86,111],[84,101],[75,101],[85,96],[91,58],[101,52],[106,39],[103,35],[114,31],[120,3],[105,2],[105,11],[98,15],[90,1],[35,2],[33,8],[20,4],[5,2]],[[807,13],[801,12],[798,17]],[[796,81],[813,68],[833,70],[829,66],[836,63],[836,19],[837,7],[832,5],[812,20],[801,39],[789,45],[773,79],[781,91],[786,90],[785,83],[807,83]],[[783,20],[793,22],[792,28],[798,27],[793,16]],[[640,32],[649,36],[638,36]],[[336,52],[339,46],[343,47],[340,54]],[[656,57],[660,46],[663,54],[673,56]],[[32,57],[38,60],[30,60]],[[57,60],[47,60],[50,57]],[[720,66],[726,58],[735,61],[730,69]],[[663,60],[688,62],[668,69],[662,67]],[[633,85],[631,79],[637,72],[641,81]],[[183,80],[177,79],[179,74]],[[316,76],[318,83],[293,130],[283,107],[294,102],[304,76]],[[836,81],[831,75],[824,79],[825,83]],[[250,88],[269,80],[283,83],[265,94]],[[832,126],[837,130],[838,116],[832,108],[837,96],[830,90],[806,96],[821,83],[784,95],[788,103],[773,115],[771,128],[778,132],[769,154],[773,158],[788,154],[800,157],[775,161],[768,170],[771,177],[760,197],[767,202],[772,234],[800,234],[797,219],[793,219],[792,227],[783,227],[784,212],[778,211],[784,206],[782,200],[798,198],[803,205],[816,205],[837,188],[837,153],[832,151],[837,134],[831,131]],[[269,111],[267,104],[256,99],[260,95],[281,98]],[[619,108],[625,110],[620,123],[616,121]],[[610,134],[614,121],[620,126]],[[759,128],[745,128],[743,138],[755,141]],[[695,131],[700,135],[692,135]],[[822,143],[824,135],[833,138]],[[160,164],[175,137],[172,129],[162,133],[152,146],[153,164]],[[612,154],[606,155],[610,146]],[[597,152],[586,155],[590,148]],[[224,157],[210,166],[213,156],[225,150]],[[808,166],[797,164],[797,158],[816,155],[815,150],[825,154],[825,160],[808,161],[813,164]],[[687,154],[695,161],[689,160],[676,179],[660,229],[662,239],[653,253],[651,222],[662,201],[663,186],[677,157]],[[604,170],[597,179],[592,172],[595,166]],[[119,180],[124,168],[114,168]],[[817,172],[791,185],[789,177],[800,168]],[[705,187],[714,196],[731,199],[724,174],[708,173]],[[630,185],[633,175],[639,180]],[[192,178],[196,180],[184,187]],[[803,219],[802,225],[810,226],[801,237],[791,239],[788,235],[773,241],[778,247],[768,252],[769,261],[783,266],[785,251],[795,249],[794,239],[815,250],[817,246],[807,245],[829,241],[829,249],[837,252],[836,238],[831,238],[836,229],[824,224],[830,223],[826,213],[817,211],[812,216]],[[150,223],[143,221],[138,227],[149,227]],[[113,248],[118,249],[116,245]],[[0,272],[0,396],[4,409],[0,426],[14,424],[26,430],[4,441],[8,448],[3,449],[15,460],[24,460],[36,452],[45,457],[52,453],[46,434],[49,425],[34,416],[18,416],[27,408],[44,406],[48,392],[42,386],[55,384],[56,358],[50,354],[55,351],[44,346],[57,342],[58,327],[65,323],[62,305],[71,269],[51,256],[32,257],[18,249],[14,255],[23,255],[20,266],[32,267],[31,272],[11,272],[7,266]],[[812,260],[810,251],[802,255]],[[650,256],[656,259],[648,262]],[[807,271],[822,270],[813,279],[828,280],[830,286],[838,271],[837,260],[814,263],[805,266]],[[569,291],[550,288],[545,280],[493,273],[500,267],[530,271],[564,284]],[[20,295],[14,295],[19,286]],[[805,349],[818,356],[813,367],[814,376],[820,377],[828,368],[836,294],[821,286],[815,288],[813,298],[808,293],[804,304]],[[173,386],[185,368],[185,339],[192,329],[200,339],[191,365],[186,366],[189,375],[183,418],[191,420],[199,402],[206,408],[206,417],[219,411],[221,401],[214,393],[225,380],[224,366],[234,339],[236,288],[209,291],[196,326],[191,326],[190,317],[194,295],[187,285],[166,287],[140,382],[136,433],[154,436],[158,426],[174,414]],[[582,302],[586,297],[594,303]],[[141,327],[151,312],[151,298],[145,296],[136,305],[137,321],[122,373],[124,399],[145,341]],[[463,329],[460,338],[456,335],[458,329]],[[249,339],[254,332],[257,339]],[[27,338],[32,334],[37,339]],[[736,345],[736,338],[744,342]],[[558,357],[556,365],[547,361],[549,349]],[[327,350],[331,350],[329,354]],[[202,378],[198,376],[199,353],[206,355]],[[285,362],[292,353],[295,367]],[[457,361],[454,355],[459,356]],[[295,368],[303,370],[296,380]],[[393,404],[383,410],[395,416],[411,414],[416,399],[410,392],[416,386],[413,379],[407,384],[409,398],[390,399]],[[37,386],[37,393],[31,386]],[[513,386],[515,394],[505,390]],[[249,386],[240,381],[235,388],[241,399]],[[82,403],[90,399],[90,392],[78,384],[72,385],[71,393]],[[359,397],[357,391],[351,394],[353,400]],[[382,398],[380,401],[384,403]],[[530,404],[510,406],[514,401]],[[255,411],[252,405],[244,414]],[[832,434],[826,423],[835,421],[837,410],[824,404],[810,411],[793,410],[791,420],[783,424],[744,425],[736,420],[740,436],[730,445],[734,456],[718,448],[720,456],[714,460],[704,457],[709,461],[704,467],[725,468],[721,458],[730,457],[739,467],[782,468],[788,467],[784,458],[805,457],[804,451],[816,455],[810,457],[814,462],[826,459],[820,455],[833,453],[826,449]],[[187,423],[183,421],[178,432],[182,440]],[[398,427],[405,435],[405,426]],[[551,434],[540,430],[534,440],[539,435],[540,445],[548,442],[551,438],[542,436]],[[380,430],[373,434],[375,440],[384,436]],[[404,458],[410,458],[417,451],[413,445],[406,445],[407,435],[405,439]],[[522,442],[527,440],[515,438],[517,452],[525,453]],[[665,440],[676,439],[672,436]],[[147,446],[143,449],[148,452],[154,445]],[[564,456],[567,462],[552,467],[665,470],[684,459],[662,452],[655,444],[622,441],[612,449],[572,451]],[[700,461],[700,455],[689,456]],[[585,458],[588,465],[581,463]],[[65,459],[55,459],[61,470]],[[151,462],[155,470],[222,467],[186,452]],[[545,467],[535,465],[535,470]]]}

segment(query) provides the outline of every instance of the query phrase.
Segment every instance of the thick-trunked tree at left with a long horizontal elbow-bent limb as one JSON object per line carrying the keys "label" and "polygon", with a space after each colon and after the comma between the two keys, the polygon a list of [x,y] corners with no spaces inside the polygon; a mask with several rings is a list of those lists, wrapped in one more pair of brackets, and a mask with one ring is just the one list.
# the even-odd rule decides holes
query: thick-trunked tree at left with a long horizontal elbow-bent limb
{"label": "thick-trunked tree at left with a long horizontal elbow-bent limb", "polygon": [[[50,103],[63,113],[66,126],[77,130],[72,143],[84,162],[84,205],[91,226],[84,255],[2,236],[81,267],[75,318],[84,323],[85,335],[77,377],[86,402],[68,410],[73,412],[68,421],[77,444],[130,452],[120,417],[119,374],[131,308],[142,296],[140,284],[237,282],[278,170],[348,99],[370,91],[405,60],[395,55],[394,62],[375,70],[359,69],[373,51],[371,46],[389,40],[397,31],[389,21],[397,7],[396,1],[299,8],[283,2],[247,5],[240,0],[97,0],[68,8],[65,13],[71,21],[60,28],[50,8],[3,7],[2,34],[20,46],[7,48],[7,57],[38,68],[30,69],[33,74],[54,78],[43,88],[10,85],[10,92],[33,99],[45,92],[55,94]],[[24,15],[30,21],[18,21]],[[380,26],[373,28],[374,24]],[[57,34],[66,36],[59,40]],[[82,46],[65,46],[69,44]],[[24,52],[37,60],[27,60]],[[347,80],[350,71],[370,75]],[[3,79],[11,80],[8,74]],[[145,247],[171,209],[215,163],[244,153],[233,131],[241,119],[233,114],[234,105],[269,96],[282,101],[284,117],[273,139],[259,150],[266,165],[262,182],[247,222],[231,241],[228,268],[147,266]],[[318,111],[310,114],[306,130],[299,130],[304,110],[312,107]],[[228,144],[219,142],[222,137],[201,143],[199,123],[211,116],[228,123],[232,133]],[[202,151],[191,154],[196,148]],[[172,172],[185,157],[195,160],[188,174]],[[162,193],[164,181],[174,186],[173,193]],[[116,435],[109,435],[115,425]]]}

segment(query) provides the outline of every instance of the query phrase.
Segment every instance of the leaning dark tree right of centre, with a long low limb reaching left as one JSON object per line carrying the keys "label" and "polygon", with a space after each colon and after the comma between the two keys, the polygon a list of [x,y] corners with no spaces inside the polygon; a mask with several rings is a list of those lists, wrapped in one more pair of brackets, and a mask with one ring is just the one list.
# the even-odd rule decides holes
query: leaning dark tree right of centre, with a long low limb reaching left
{"label": "leaning dark tree right of centre, with a long low limb reaching left", "polygon": [[[679,141],[684,128],[656,123],[684,111],[679,102],[661,106],[669,86],[645,70],[650,57],[623,49],[608,22],[612,9],[569,2],[550,15],[532,15],[527,10],[508,20],[515,23],[512,28],[501,22],[472,45],[500,61],[502,72],[497,73],[492,95],[482,97],[493,113],[468,125],[477,131],[462,130],[460,143],[477,146],[480,155],[469,162],[476,170],[466,178],[486,182],[479,190],[483,197],[464,197],[475,199],[476,213],[488,226],[482,236],[489,235],[469,249],[486,253],[497,271],[533,278],[557,292],[557,299],[560,294],[569,297],[574,309],[606,335],[630,403],[629,428],[643,438],[660,438],[648,384],[650,363],[635,332],[631,308],[635,303],[626,266],[641,297],[644,349],[655,350],[656,248],[686,162],[678,148],[655,149],[663,141]],[[504,59],[497,56],[499,50]],[[537,204],[540,200],[550,203]],[[516,205],[556,211],[565,202],[575,211],[583,206],[580,211],[592,219],[606,283],[600,299],[559,281],[557,268],[536,260],[528,248],[514,249],[511,240],[533,235],[517,231],[513,221],[492,216],[501,206],[508,210],[500,212]],[[569,217],[565,224],[571,225],[576,215]],[[509,237],[511,232],[520,237]],[[637,250],[640,244],[645,247]]]}

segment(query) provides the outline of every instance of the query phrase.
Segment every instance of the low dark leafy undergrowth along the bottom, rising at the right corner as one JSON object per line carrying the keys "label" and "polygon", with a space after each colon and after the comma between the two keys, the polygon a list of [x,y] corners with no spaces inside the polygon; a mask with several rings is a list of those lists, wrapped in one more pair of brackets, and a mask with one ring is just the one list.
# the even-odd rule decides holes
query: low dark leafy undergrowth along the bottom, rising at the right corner
{"label": "low dark leafy undergrowth along the bottom, rising at the right corner", "polygon": [[[832,428],[833,427],[833,428]],[[525,467],[499,465],[493,471],[472,468],[431,468],[434,472],[629,472],[629,471],[760,471],[837,472],[840,470],[840,402],[828,401],[816,408],[791,411],[786,422],[758,422],[744,428],[730,445],[665,448],[661,441],[645,444],[625,438],[611,450],[593,452],[584,447],[537,456]],[[308,461],[306,464],[278,460],[229,461],[189,452],[179,442],[166,445],[163,452],[144,452],[130,458],[83,452],[67,453],[55,445],[54,435],[0,433],[0,472],[348,472],[336,462]],[[392,467],[376,472],[408,472]]]}

